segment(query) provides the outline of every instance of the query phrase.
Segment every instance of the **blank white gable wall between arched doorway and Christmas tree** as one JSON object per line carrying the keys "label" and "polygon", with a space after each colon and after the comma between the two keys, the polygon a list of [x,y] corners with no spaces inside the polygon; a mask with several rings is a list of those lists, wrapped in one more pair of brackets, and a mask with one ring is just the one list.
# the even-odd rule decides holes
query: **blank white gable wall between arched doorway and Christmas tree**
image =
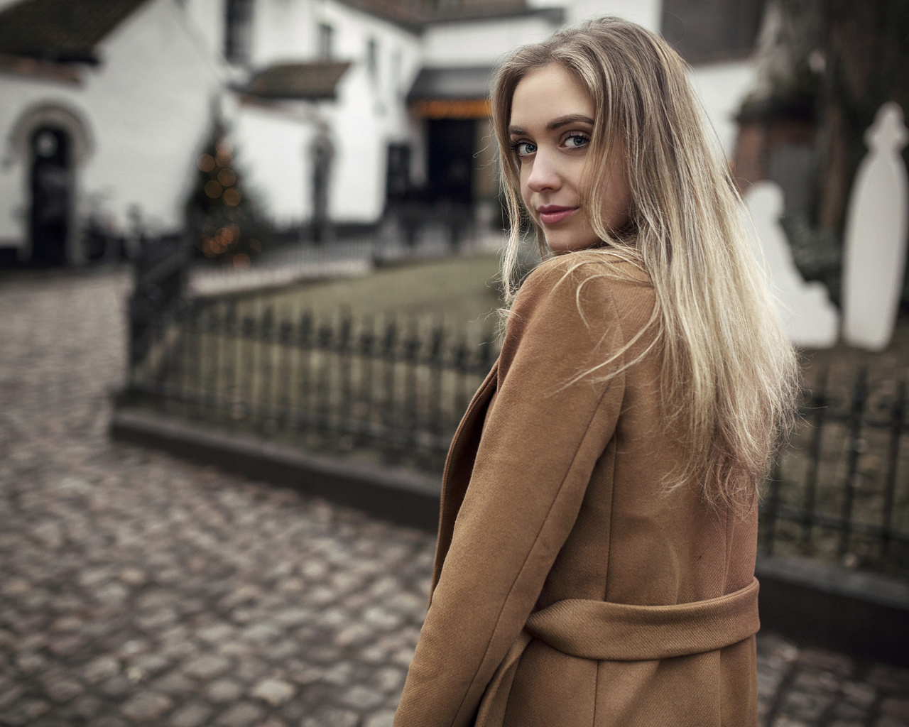
{"label": "blank white gable wall between arched doorway and Christmas tree", "polygon": [[103,51],[102,71],[85,89],[99,139],[85,167],[85,187],[103,190],[120,220],[139,204],[150,223],[177,229],[221,68],[187,32],[172,0],[145,5]]}

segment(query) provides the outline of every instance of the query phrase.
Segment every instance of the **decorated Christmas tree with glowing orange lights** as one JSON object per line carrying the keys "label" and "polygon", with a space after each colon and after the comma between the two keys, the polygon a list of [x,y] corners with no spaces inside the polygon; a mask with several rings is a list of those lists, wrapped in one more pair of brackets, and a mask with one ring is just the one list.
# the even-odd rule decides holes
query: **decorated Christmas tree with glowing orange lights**
{"label": "decorated Christmas tree with glowing orange lights", "polygon": [[245,189],[223,124],[215,124],[196,167],[185,206],[196,255],[243,270],[262,252],[271,230],[254,195]]}

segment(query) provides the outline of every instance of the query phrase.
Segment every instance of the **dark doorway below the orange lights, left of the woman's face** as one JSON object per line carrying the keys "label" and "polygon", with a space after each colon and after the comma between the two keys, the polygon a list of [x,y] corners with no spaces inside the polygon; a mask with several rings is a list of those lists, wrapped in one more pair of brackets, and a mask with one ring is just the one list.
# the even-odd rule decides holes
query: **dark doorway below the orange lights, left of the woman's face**
{"label": "dark doorway below the orange lights, left of the woman's face", "polygon": [[429,193],[439,202],[474,201],[474,119],[430,119]]}

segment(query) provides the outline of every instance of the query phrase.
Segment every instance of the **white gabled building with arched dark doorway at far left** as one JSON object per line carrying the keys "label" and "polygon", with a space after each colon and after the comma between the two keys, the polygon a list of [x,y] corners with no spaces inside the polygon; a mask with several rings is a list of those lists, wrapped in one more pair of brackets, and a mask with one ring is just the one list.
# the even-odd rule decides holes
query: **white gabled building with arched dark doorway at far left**
{"label": "white gabled building with arched dark doorway at far left", "polygon": [[90,214],[115,230],[134,207],[162,229],[180,224],[225,85],[173,0],[105,0],[90,14],[59,5],[0,11],[0,245],[49,263],[80,260],[76,230]]}

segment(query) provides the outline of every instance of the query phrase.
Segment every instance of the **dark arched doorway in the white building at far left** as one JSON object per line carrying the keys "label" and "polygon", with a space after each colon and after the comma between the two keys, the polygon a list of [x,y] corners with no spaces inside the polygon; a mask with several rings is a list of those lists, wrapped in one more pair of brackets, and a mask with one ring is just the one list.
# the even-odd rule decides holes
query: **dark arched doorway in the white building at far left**
{"label": "dark arched doorway in the white building at far left", "polygon": [[65,131],[42,126],[31,138],[32,210],[30,234],[32,262],[62,265],[66,262],[69,209],[73,174],[71,146]]}

